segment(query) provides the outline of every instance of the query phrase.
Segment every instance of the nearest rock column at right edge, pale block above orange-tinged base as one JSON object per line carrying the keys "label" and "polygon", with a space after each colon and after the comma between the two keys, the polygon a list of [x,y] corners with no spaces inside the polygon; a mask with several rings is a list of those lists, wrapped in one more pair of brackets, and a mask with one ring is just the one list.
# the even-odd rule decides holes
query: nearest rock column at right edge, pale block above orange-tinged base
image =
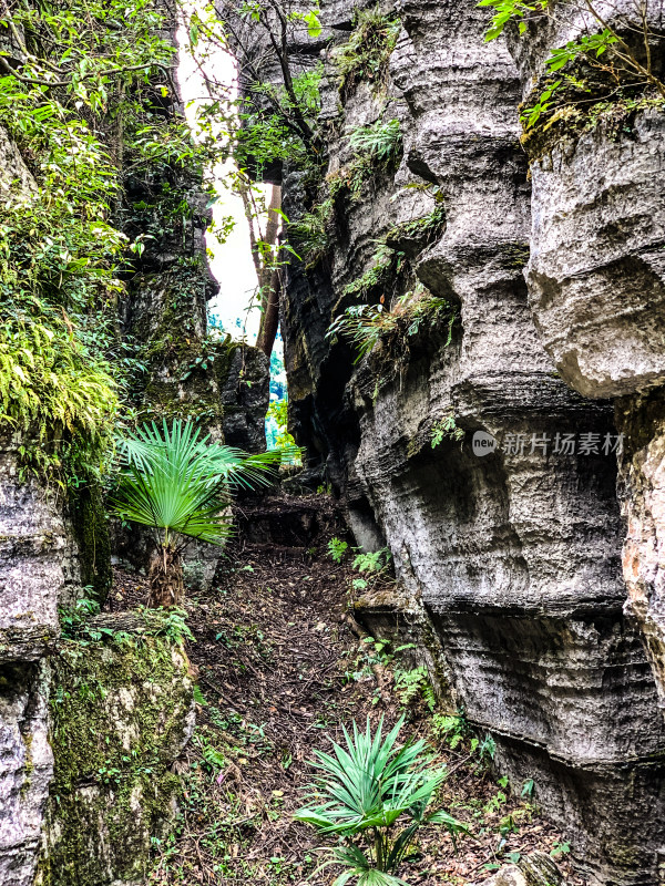
{"label": "nearest rock column at right edge, pale block above orange-tinged base", "polygon": [[[635,14],[628,3],[598,11],[622,33]],[[662,33],[664,14],[662,2],[646,7],[653,34]],[[546,29],[531,24],[535,40],[513,40],[525,93],[543,79],[543,43],[575,39],[584,25],[582,14],[560,14]],[[644,50],[634,34],[626,39]],[[662,75],[662,40],[651,42]],[[580,113],[563,111],[577,125],[555,131],[531,161],[530,303],[562,378],[586,396],[618,398],[625,608],[641,628],[663,701],[665,113],[653,100],[632,112],[605,107],[596,125],[580,132]]]}

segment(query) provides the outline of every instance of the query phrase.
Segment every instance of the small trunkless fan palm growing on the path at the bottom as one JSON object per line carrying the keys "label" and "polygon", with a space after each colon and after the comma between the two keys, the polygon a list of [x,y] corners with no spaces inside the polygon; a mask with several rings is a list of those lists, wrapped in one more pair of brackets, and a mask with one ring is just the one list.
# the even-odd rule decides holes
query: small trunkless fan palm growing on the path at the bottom
{"label": "small trunkless fan palm growing on the path at the bottom", "polygon": [[402,717],[387,735],[382,719],[375,734],[369,718],[364,732],[354,722],[352,734],[344,730],[346,748],[334,743],[332,754],[315,752],[314,766],[320,774],[308,789],[311,805],[295,818],[321,835],[341,838],[326,851],[329,858],[321,865],[344,866],[334,886],[352,879],[358,886],[398,886],[405,882],[396,873],[418,828],[442,824],[453,839],[468,833],[443,810],[429,811],[446,771],[432,765],[421,739],[398,744],[403,721]]}

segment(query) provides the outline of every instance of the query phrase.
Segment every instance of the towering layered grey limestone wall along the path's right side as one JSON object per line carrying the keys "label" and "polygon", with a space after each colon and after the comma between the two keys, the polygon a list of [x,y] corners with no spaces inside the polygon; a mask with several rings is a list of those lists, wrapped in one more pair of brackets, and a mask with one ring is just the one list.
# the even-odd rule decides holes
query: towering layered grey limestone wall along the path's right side
{"label": "towering layered grey limestone wall along the path's right side", "polygon": [[[610,398],[656,384],[664,368],[659,112],[638,115],[630,136],[601,126],[533,157],[531,193],[518,105],[562,35],[548,25],[534,58],[515,63],[505,43],[483,43],[488,19],[471,0],[407,0],[398,14],[383,90],[359,83],[338,97],[326,69],[328,181],[348,168],[348,127],[381,115],[399,119],[403,156],[359,196],[338,196],[327,254],[291,268],[294,430],[326,461],[358,537],[388,543],[400,605],[433,626],[452,700],[494,736],[515,787],[534,779],[592,883],[654,884],[665,729],[641,627],[662,662],[663,423],[657,398],[628,398],[616,427]],[[339,4],[323,18],[340,43],[354,27]],[[436,194],[444,229],[419,241],[409,223]],[[287,176],[290,218],[303,199]],[[397,346],[386,333],[355,367],[326,332],[360,301],[349,284],[379,238],[409,271],[370,301],[383,295],[399,315],[420,284],[458,316]],[[631,426],[643,430],[622,455]],[[624,614],[622,507],[638,620]],[[364,618],[381,628],[389,606],[372,605]]]}

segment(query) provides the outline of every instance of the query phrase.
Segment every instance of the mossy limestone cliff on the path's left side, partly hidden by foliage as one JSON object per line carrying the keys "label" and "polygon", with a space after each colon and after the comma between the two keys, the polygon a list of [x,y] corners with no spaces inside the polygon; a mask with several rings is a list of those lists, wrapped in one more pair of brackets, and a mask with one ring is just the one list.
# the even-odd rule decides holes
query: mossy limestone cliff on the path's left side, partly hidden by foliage
{"label": "mossy limestone cliff on the path's left side, partly hidden by foliage", "polygon": [[[166,111],[177,114],[177,103]],[[25,202],[25,215],[42,194],[48,203],[34,156],[2,126],[0,158],[4,208],[10,197]],[[135,406],[143,420],[195,413],[217,439],[259,451],[267,360],[256,349],[207,336],[206,299],[215,286],[205,260],[201,177],[163,166],[153,173],[125,183],[113,219],[132,239],[153,237],[117,285],[113,358],[137,357],[124,406]],[[64,308],[62,315],[69,322]],[[171,624],[102,620],[100,630],[81,638],[72,637],[70,624],[61,639],[62,617],[80,618],[78,601],[103,604],[109,593],[111,539],[101,490],[88,476],[68,486],[32,470],[30,456],[71,429],[61,423],[38,436],[11,420],[3,429],[0,884],[32,886],[35,876],[53,886],[140,884],[151,838],[177,796],[171,766],[192,727],[187,661]],[[218,558],[217,548],[200,545],[188,564],[192,580],[209,581]]]}

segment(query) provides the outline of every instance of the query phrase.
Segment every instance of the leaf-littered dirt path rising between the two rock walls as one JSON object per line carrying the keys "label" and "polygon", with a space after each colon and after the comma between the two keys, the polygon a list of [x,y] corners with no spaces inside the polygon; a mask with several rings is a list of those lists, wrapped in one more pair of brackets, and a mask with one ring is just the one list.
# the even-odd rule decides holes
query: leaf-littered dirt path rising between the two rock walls
{"label": "leaf-littered dirt path rising between the two rock walls", "polygon": [[[354,719],[390,723],[431,741],[449,769],[438,805],[467,823],[457,847],[448,833],[421,833],[400,876],[409,884],[481,883],[497,866],[534,849],[554,857],[566,883],[582,886],[567,845],[540,814],[538,785],[511,793],[481,755],[463,718],[429,710],[427,686],[399,652],[374,642],[347,615],[357,573],[335,564],[327,543],[344,537],[329,499],[245,505],[245,527],[211,591],[187,600],[198,677],[196,728],[180,761],[185,792],[175,834],[155,841],[155,884],[329,884],[315,874],[319,839],[291,820],[303,805],[315,748],[341,738]],[[144,601],[145,585],[117,573],[113,610]]]}

